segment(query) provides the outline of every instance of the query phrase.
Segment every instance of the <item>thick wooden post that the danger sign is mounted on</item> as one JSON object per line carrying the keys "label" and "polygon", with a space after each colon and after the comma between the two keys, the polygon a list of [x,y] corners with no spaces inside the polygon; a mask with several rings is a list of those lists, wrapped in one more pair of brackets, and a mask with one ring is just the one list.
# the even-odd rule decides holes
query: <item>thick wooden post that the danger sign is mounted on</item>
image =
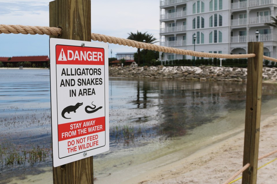
{"label": "thick wooden post that the danger sign is mounted on", "polygon": [[[61,27],[63,34],[52,38],[91,41],[91,1],[55,0],[49,3],[50,27]],[[93,183],[93,157],[53,167],[54,184]]]}

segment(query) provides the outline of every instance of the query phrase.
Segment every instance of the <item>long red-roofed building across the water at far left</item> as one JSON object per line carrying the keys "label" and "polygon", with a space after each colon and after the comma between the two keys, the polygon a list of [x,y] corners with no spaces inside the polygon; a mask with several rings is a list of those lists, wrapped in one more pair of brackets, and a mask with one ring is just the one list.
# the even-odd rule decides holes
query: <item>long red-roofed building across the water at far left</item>
{"label": "long red-roofed building across the water at far left", "polygon": [[[9,57],[8,57],[9,58]],[[0,57],[1,60],[1,57]],[[48,67],[50,59],[47,55],[39,56],[14,56],[10,60],[2,61],[5,67]]]}

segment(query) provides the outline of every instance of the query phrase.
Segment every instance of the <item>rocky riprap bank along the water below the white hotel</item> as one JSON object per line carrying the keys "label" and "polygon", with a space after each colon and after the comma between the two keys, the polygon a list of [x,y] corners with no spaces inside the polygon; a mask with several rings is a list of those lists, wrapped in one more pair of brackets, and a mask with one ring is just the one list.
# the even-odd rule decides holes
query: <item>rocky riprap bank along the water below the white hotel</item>
{"label": "rocky riprap bank along the water below the white hotel", "polygon": [[[218,66],[144,66],[109,67],[109,76],[171,78],[209,81],[246,81],[247,68]],[[263,79],[277,80],[277,68],[263,67]]]}

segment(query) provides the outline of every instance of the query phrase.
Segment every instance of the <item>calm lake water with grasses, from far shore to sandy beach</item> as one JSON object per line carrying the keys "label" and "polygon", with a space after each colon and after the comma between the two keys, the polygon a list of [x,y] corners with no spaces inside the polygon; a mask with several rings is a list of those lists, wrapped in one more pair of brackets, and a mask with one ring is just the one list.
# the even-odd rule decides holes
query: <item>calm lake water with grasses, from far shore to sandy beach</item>
{"label": "calm lake water with grasses, from far shore to sandy beach", "polygon": [[[51,166],[49,70],[0,70],[0,78],[0,176]],[[120,172],[131,177],[243,131],[245,98],[246,83],[109,78],[110,150],[93,157],[95,183]],[[277,85],[263,84],[262,113],[276,102]],[[38,146],[44,162],[5,165],[10,153]]]}

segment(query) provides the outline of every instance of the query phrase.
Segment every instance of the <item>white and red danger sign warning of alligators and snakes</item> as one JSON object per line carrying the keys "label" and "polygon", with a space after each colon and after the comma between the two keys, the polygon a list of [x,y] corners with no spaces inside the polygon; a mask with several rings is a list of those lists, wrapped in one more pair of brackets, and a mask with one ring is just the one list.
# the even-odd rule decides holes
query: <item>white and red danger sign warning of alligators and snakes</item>
{"label": "white and red danger sign warning of alligators and snakes", "polygon": [[109,150],[108,46],[50,38],[53,166]]}

